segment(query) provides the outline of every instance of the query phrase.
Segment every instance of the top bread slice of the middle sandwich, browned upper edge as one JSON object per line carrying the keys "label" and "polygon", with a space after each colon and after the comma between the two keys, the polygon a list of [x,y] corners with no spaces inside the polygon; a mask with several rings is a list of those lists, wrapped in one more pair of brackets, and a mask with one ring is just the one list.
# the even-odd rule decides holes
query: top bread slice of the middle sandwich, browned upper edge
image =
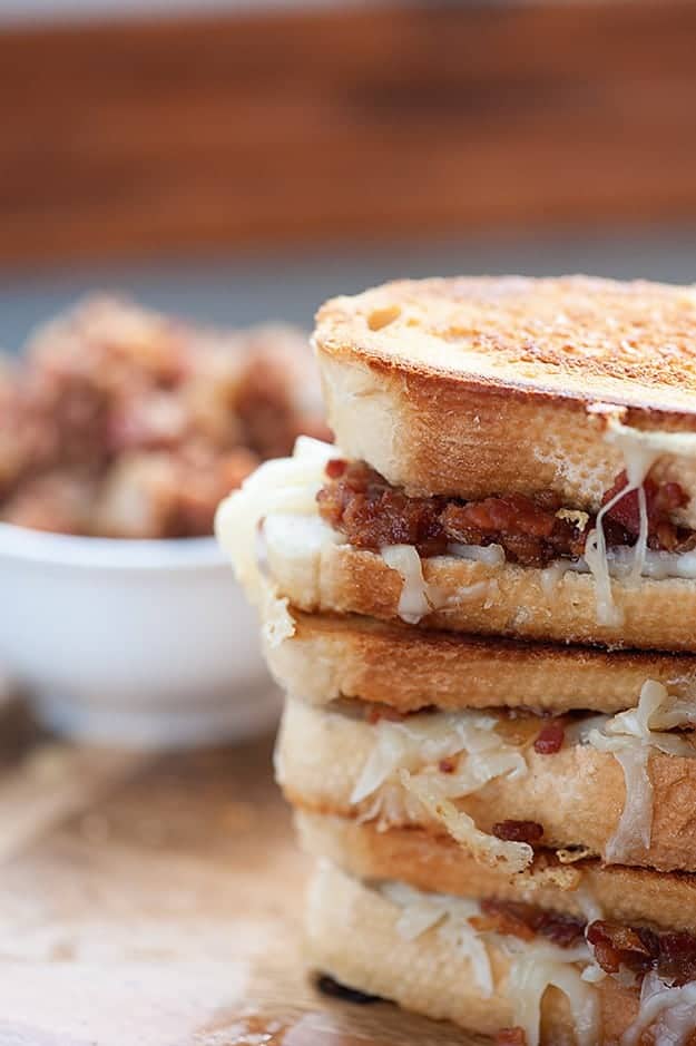
{"label": "top bread slice of the middle sandwich, browned upper edge", "polygon": [[293,610],[295,633],[267,644],[277,682],[313,704],[340,697],[399,712],[434,705],[616,713],[637,704],[646,680],[696,697],[696,657],[483,638],[401,622]]}

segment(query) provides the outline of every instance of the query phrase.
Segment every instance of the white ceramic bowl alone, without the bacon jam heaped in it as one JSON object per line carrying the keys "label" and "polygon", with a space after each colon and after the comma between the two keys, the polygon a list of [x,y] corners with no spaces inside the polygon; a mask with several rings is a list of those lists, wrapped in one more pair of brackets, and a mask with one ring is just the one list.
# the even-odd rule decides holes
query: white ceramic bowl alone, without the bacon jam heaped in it
{"label": "white ceramic bowl alone, without the bacon jam heaped in it", "polygon": [[212,537],[0,524],[0,671],[52,730],[112,744],[238,739],[280,705],[254,612]]}

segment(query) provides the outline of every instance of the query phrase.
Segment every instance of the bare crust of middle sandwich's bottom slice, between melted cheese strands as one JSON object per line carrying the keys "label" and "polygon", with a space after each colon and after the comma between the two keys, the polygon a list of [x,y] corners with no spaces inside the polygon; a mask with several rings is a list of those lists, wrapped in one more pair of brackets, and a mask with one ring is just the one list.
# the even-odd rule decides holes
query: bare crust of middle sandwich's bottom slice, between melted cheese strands
{"label": "bare crust of middle sandwich's bottom slice, between melted cheese strands", "polygon": [[[360,803],[351,794],[376,740],[364,720],[300,701],[286,703],[278,737],[278,781],[293,805],[346,818],[369,817],[374,796]],[[458,801],[486,832],[501,821],[535,821],[543,828],[543,845],[580,847],[605,857],[624,810],[624,774],[612,754],[588,745],[565,745],[555,755],[527,747],[528,772],[500,776]],[[653,831],[647,850],[630,864],[659,871],[696,871],[696,759],[654,751]],[[400,825],[413,824],[432,834],[445,832],[420,812],[403,811]]]}

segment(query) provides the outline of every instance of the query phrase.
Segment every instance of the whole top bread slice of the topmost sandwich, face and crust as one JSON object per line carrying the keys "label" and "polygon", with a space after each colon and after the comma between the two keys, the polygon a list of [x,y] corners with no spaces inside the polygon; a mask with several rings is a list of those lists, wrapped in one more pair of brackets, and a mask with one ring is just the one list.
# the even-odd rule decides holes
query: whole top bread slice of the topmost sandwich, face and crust
{"label": "whole top bread slice of the topmost sandwich, face and crust", "polygon": [[[685,438],[655,476],[694,499],[693,287],[402,281],[327,302],[314,343],[339,446],[409,493],[551,490],[597,510],[626,439],[658,431]],[[696,527],[696,500],[682,519]]]}

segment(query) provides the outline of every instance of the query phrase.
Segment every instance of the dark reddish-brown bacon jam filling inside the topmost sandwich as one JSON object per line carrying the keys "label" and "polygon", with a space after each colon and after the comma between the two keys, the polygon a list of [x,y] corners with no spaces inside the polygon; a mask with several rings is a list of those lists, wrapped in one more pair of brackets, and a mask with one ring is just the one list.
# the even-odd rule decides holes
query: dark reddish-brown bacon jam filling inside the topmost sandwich
{"label": "dark reddish-brown bacon jam filling inside the topmost sandwich", "polygon": [[[317,495],[322,518],[356,548],[413,545],[421,556],[444,554],[453,544],[500,545],[506,558],[543,567],[556,559],[579,559],[596,517],[563,507],[550,491],[526,497],[506,495],[465,501],[462,498],[411,498],[392,487],[363,461],[334,459]],[[624,487],[626,472],[607,490],[607,505]],[[649,476],[645,490],[648,548],[685,553],[696,548],[696,531],[676,526],[672,514],[688,498],[678,483],[657,483]],[[640,531],[637,490],[629,491],[604,516],[608,548],[633,546]]]}

